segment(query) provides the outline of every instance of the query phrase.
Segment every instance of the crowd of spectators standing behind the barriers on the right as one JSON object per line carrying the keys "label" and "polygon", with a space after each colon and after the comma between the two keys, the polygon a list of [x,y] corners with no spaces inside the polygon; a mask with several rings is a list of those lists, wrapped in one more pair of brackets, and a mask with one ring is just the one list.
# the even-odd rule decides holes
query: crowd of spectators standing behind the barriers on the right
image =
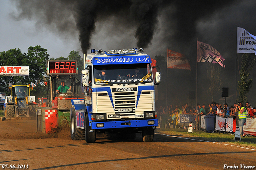
{"label": "crowd of spectators standing behind the barriers on the right", "polygon": [[[237,106],[236,103],[234,103],[233,106],[228,106],[227,103],[225,103],[223,106],[222,104],[211,102],[207,105],[205,104],[197,104],[197,107],[190,107],[188,106],[188,103],[185,103],[182,106],[176,105],[175,107],[170,104],[167,107],[160,106],[157,109],[157,113],[159,115],[159,121],[161,123],[166,123],[163,121],[169,121],[171,124],[174,124],[175,126],[178,125],[178,114],[192,114],[195,115],[195,119],[198,118],[200,120],[200,116],[202,115],[209,115],[209,116],[220,116],[220,117],[230,117],[233,116],[234,119],[236,117],[235,108]],[[251,118],[256,118],[256,107],[250,106],[249,102],[246,102],[246,114],[247,116],[250,116]],[[163,120],[163,117],[165,117],[166,120]]]}

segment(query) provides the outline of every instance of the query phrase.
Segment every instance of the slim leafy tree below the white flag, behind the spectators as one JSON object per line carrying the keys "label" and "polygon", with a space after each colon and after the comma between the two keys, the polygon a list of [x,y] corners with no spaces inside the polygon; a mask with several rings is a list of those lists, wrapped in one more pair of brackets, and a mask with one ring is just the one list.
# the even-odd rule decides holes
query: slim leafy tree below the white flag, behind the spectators
{"label": "slim leafy tree below the white flag, behind the spectators", "polygon": [[239,101],[242,104],[248,102],[248,92],[252,88],[252,78],[250,78],[249,72],[252,70],[255,64],[255,55],[253,53],[242,54],[242,62],[240,69],[240,78],[238,81]]}

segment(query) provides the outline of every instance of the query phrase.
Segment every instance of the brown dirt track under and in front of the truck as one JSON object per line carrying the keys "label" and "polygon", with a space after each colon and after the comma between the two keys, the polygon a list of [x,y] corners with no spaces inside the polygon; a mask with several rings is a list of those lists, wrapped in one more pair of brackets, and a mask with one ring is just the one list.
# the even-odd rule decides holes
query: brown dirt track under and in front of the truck
{"label": "brown dirt track under and in front of the truck", "polygon": [[0,164],[28,164],[33,170],[213,170],[224,164],[241,169],[240,164],[256,166],[256,150],[161,134],[152,143],[137,134],[136,140],[98,136],[95,144],[86,144],[71,140],[69,127],[43,135],[36,133],[36,120],[5,120],[0,121]]}

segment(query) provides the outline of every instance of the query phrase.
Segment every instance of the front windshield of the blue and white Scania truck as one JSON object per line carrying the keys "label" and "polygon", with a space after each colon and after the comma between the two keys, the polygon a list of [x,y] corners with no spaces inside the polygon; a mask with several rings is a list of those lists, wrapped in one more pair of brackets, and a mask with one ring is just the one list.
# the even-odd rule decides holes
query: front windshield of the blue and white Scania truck
{"label": "front windshield of the blue and white Scania truck", "polygon": [[94,84],[152,82],[150,64],[94,65]]}

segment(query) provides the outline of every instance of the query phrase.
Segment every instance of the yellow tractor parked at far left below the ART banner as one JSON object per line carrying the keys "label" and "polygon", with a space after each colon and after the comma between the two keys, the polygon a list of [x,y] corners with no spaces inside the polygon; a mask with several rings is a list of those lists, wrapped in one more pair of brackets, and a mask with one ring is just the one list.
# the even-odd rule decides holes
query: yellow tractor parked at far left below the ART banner
{"label": "yellow tractor parked at far left below the ART banner", "polygon": [[36,104],[29,101],[30,85],[12,85],[11,97],[5,103],[6,117],[33,117],[36,116]]}

